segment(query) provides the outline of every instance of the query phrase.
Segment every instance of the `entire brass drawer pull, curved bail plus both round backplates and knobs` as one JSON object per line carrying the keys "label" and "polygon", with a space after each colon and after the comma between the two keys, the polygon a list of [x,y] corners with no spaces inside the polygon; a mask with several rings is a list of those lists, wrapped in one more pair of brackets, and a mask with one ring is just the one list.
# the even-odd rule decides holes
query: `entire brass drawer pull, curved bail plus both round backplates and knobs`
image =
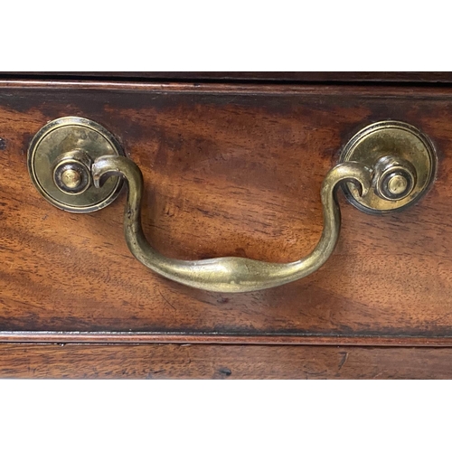
{"label": "entire brass drawer pull, curved bail plus both round backplates and knobs", "polygon": [[42,127],[29,148],[28,165],[40,193],[70,212],[105,207],[117,196],[121,181],[127,181],[124,233],[132,254],[165,278],[231,293],[281,286],[324,265],[341,228],[336,199],[340,184],[349,200],[364,212],[395,211],[419,201],[426,192],[434,179],[436,155],[428,138],[405,123],[385,121],[363,128],[344,147],[341,162],[325,175],[321,188],[324,229],[315,249],[286,264],[234,257],[170,259],[154,250],[141,226],[140,169],[123,155],[106,129],[88,119],[60,118]]}

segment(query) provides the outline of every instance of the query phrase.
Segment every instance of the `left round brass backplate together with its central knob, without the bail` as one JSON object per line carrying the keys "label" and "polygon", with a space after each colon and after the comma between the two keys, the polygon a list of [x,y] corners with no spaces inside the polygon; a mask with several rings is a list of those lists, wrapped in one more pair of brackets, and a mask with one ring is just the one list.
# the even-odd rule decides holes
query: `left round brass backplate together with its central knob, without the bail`
{"label": "left round brass backplate together with its central knob, without the bail", "polygon": [[100,155],[124,152],[118,140],[98,123],[59,118],[33,137],[28,171],[39,193],[54,206],[68,212],[94,212],[113,202],[123,184],[121,177],[112,177],[100,189],[93,186],[90,167]]}

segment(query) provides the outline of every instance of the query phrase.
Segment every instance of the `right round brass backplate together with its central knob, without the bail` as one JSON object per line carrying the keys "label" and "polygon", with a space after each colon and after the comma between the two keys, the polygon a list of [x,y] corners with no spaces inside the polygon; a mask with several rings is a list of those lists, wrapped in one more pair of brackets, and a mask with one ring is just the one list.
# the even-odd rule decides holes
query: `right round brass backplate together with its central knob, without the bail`
{"label": "right round brass backplate together with its central knob, without the bail", "polygon": [[344,147],[341,162],[374,169],[372,190],[361,196],[353,184],[345,193],[358,209],[393,212],[418,202],[433,182],[437,157],[428,137],[400,121],[381,121],[358,132]]}

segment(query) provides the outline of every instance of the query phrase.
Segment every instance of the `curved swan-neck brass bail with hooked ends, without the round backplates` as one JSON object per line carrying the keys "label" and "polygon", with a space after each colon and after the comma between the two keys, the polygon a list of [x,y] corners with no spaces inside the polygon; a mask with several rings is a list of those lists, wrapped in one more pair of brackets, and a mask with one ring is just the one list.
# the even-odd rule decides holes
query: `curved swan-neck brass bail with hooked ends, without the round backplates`
{"label": "curved swan-neck brass bail with hooked ends, without the round backplates", "polygon": [[304,278],[322,267],[334,251],[341,228],[341,212],[335,197],[338,184],[351,181],[357,184],[362,193],[367,193],[372,184],[372,171],[362,164],[350,162],[334,166],[326,174],[321,190],[324,212],[322,237],[306,258],[278,264],[245,258],[179,260],[162,256],[146,240],[141,228],[143,177],[137,165],[121,156],[99,157],[92,165],[96,186],[100,186],[109,176],[118,174],[124,176],[128,183],[124,233],[132,254],[146,267],[165,278],[216,292],[250,292],[281,286]]}

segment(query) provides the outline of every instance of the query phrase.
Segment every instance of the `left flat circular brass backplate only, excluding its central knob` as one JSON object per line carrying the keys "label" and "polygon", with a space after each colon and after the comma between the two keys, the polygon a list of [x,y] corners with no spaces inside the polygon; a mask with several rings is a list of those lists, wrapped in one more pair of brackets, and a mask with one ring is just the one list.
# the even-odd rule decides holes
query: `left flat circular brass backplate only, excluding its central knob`
{"label": "left flat circular brass backplate only, excluding its central knob", "polygon": [[33,137],[28,149],[28,171],[39,193],[67,212],[95,212],[117,197],[122,179],[110,177],[100,188],[90,185],[80,194],[64,193],[53,179],[53,169],[61,155],[84,152],[94,161],[101,155],[124,155],[117,139],[98,123],[85,118],[58,118]]}

